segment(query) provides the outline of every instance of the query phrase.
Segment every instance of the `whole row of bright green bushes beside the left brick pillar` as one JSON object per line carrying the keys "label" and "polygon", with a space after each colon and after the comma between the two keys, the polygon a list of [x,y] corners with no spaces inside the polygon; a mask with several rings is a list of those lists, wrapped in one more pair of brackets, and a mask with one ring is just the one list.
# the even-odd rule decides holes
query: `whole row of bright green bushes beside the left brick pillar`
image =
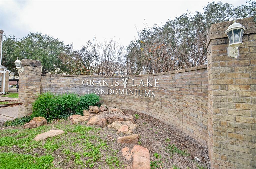
{"label": "whole row of bright green bushes beside the left brick pillar", "polygon": [[83,115],[83,110],[89,106],[98,105],[100,96],[86,94],[79,97],[77,94],[58,94],[47,92],[39,95],[33,104],[31,117],[42,116],[47,120],[66,118],[72,114]]}

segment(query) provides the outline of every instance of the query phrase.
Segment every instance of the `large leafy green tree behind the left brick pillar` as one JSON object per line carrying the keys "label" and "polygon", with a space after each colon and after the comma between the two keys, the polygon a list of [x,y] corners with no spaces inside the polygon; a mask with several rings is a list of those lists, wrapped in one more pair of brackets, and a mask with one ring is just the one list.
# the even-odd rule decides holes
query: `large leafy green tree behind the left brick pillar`
{"label": "large leafy green tree behind the left brick pillar", "polygon": [[72,50],[72,45],[65,45],[63,41],[54,39],[42,33],[30,33],[26,37],[16,40],[15,37],[6,37],[3,42],[3,65],[18,74],[14,61],[19,59],[35,59],[42,62],[42,73],[67,71],[59,55]]}

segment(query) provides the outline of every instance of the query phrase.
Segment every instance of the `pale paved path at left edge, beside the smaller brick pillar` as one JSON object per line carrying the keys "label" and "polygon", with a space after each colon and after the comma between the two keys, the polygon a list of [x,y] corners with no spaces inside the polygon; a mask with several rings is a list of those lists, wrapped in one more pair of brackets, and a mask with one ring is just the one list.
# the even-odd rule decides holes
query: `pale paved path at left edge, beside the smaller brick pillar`
{"label": "pale paved path at left edge, beside the smaller brick pillar", "polygon": [[0,121],[13,120],[18,117],[18,107],[3,107],[0,108]]}

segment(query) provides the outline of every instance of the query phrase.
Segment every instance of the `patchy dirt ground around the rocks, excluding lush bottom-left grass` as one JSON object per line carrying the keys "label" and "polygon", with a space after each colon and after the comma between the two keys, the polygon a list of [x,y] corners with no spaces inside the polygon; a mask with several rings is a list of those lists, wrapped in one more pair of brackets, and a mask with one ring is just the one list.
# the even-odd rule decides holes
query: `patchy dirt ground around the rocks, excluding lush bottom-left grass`
{"label": "patchy dirt ground around the rocks, excluding lush bottom-left grass", "polygon": [[[138,144],[149,149],[152,163],[157,164],[152,168],[208,168],[206,146],[202,146],[184,132],[156,118],[131,110],[125,110],[125,113],[134,116],[134,121],[138,126],[134,133],[140,134]],[[14,129],[18,129],[18,131],[14,132]],[[44,141],[34,141],[37,134],[54,129],[62,129],[66,133]],[[112,138],[109,138],[108,135],[111,135]],[[57,168],[126,169],[132,166],[133,161],[132,159],[127,161],[122,156],[121,150],[126,146],[132,149],[137,145],[117,143],[117,139],[125,135],[116,135],[116,130],[113,128],[93,126],[91,129],[86,123],[72,124],[69,120],[58,120],[47,126],[26,130],[22,126],[1,127],[0,141],[4,142],[6,136],[24,139],[24,143],[18,142],[11,147],[0,146],[0,152],[36,156],[51,154],[54,157],[54,167]],[[31,140],[29,141],[29,139]],[[11,145],[11,143],[8,144]],[[175,145],[173,146],[173,144]],[[177,149],[170,151],[168,146]],[[201,162],[196,162],[195,157],[199,158]]]}

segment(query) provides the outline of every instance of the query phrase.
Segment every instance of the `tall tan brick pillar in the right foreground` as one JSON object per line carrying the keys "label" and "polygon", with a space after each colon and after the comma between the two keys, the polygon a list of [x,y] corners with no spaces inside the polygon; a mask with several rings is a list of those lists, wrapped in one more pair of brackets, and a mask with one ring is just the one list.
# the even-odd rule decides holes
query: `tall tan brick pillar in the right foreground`
{"label": "tall tan brick pillar in the right foreground", "polygon": [[207,39],[209,156],[212,168],[256,167],[256,27],[246,27],[237,59],[227,55],[224,33],[232,21],[213,24]]}

